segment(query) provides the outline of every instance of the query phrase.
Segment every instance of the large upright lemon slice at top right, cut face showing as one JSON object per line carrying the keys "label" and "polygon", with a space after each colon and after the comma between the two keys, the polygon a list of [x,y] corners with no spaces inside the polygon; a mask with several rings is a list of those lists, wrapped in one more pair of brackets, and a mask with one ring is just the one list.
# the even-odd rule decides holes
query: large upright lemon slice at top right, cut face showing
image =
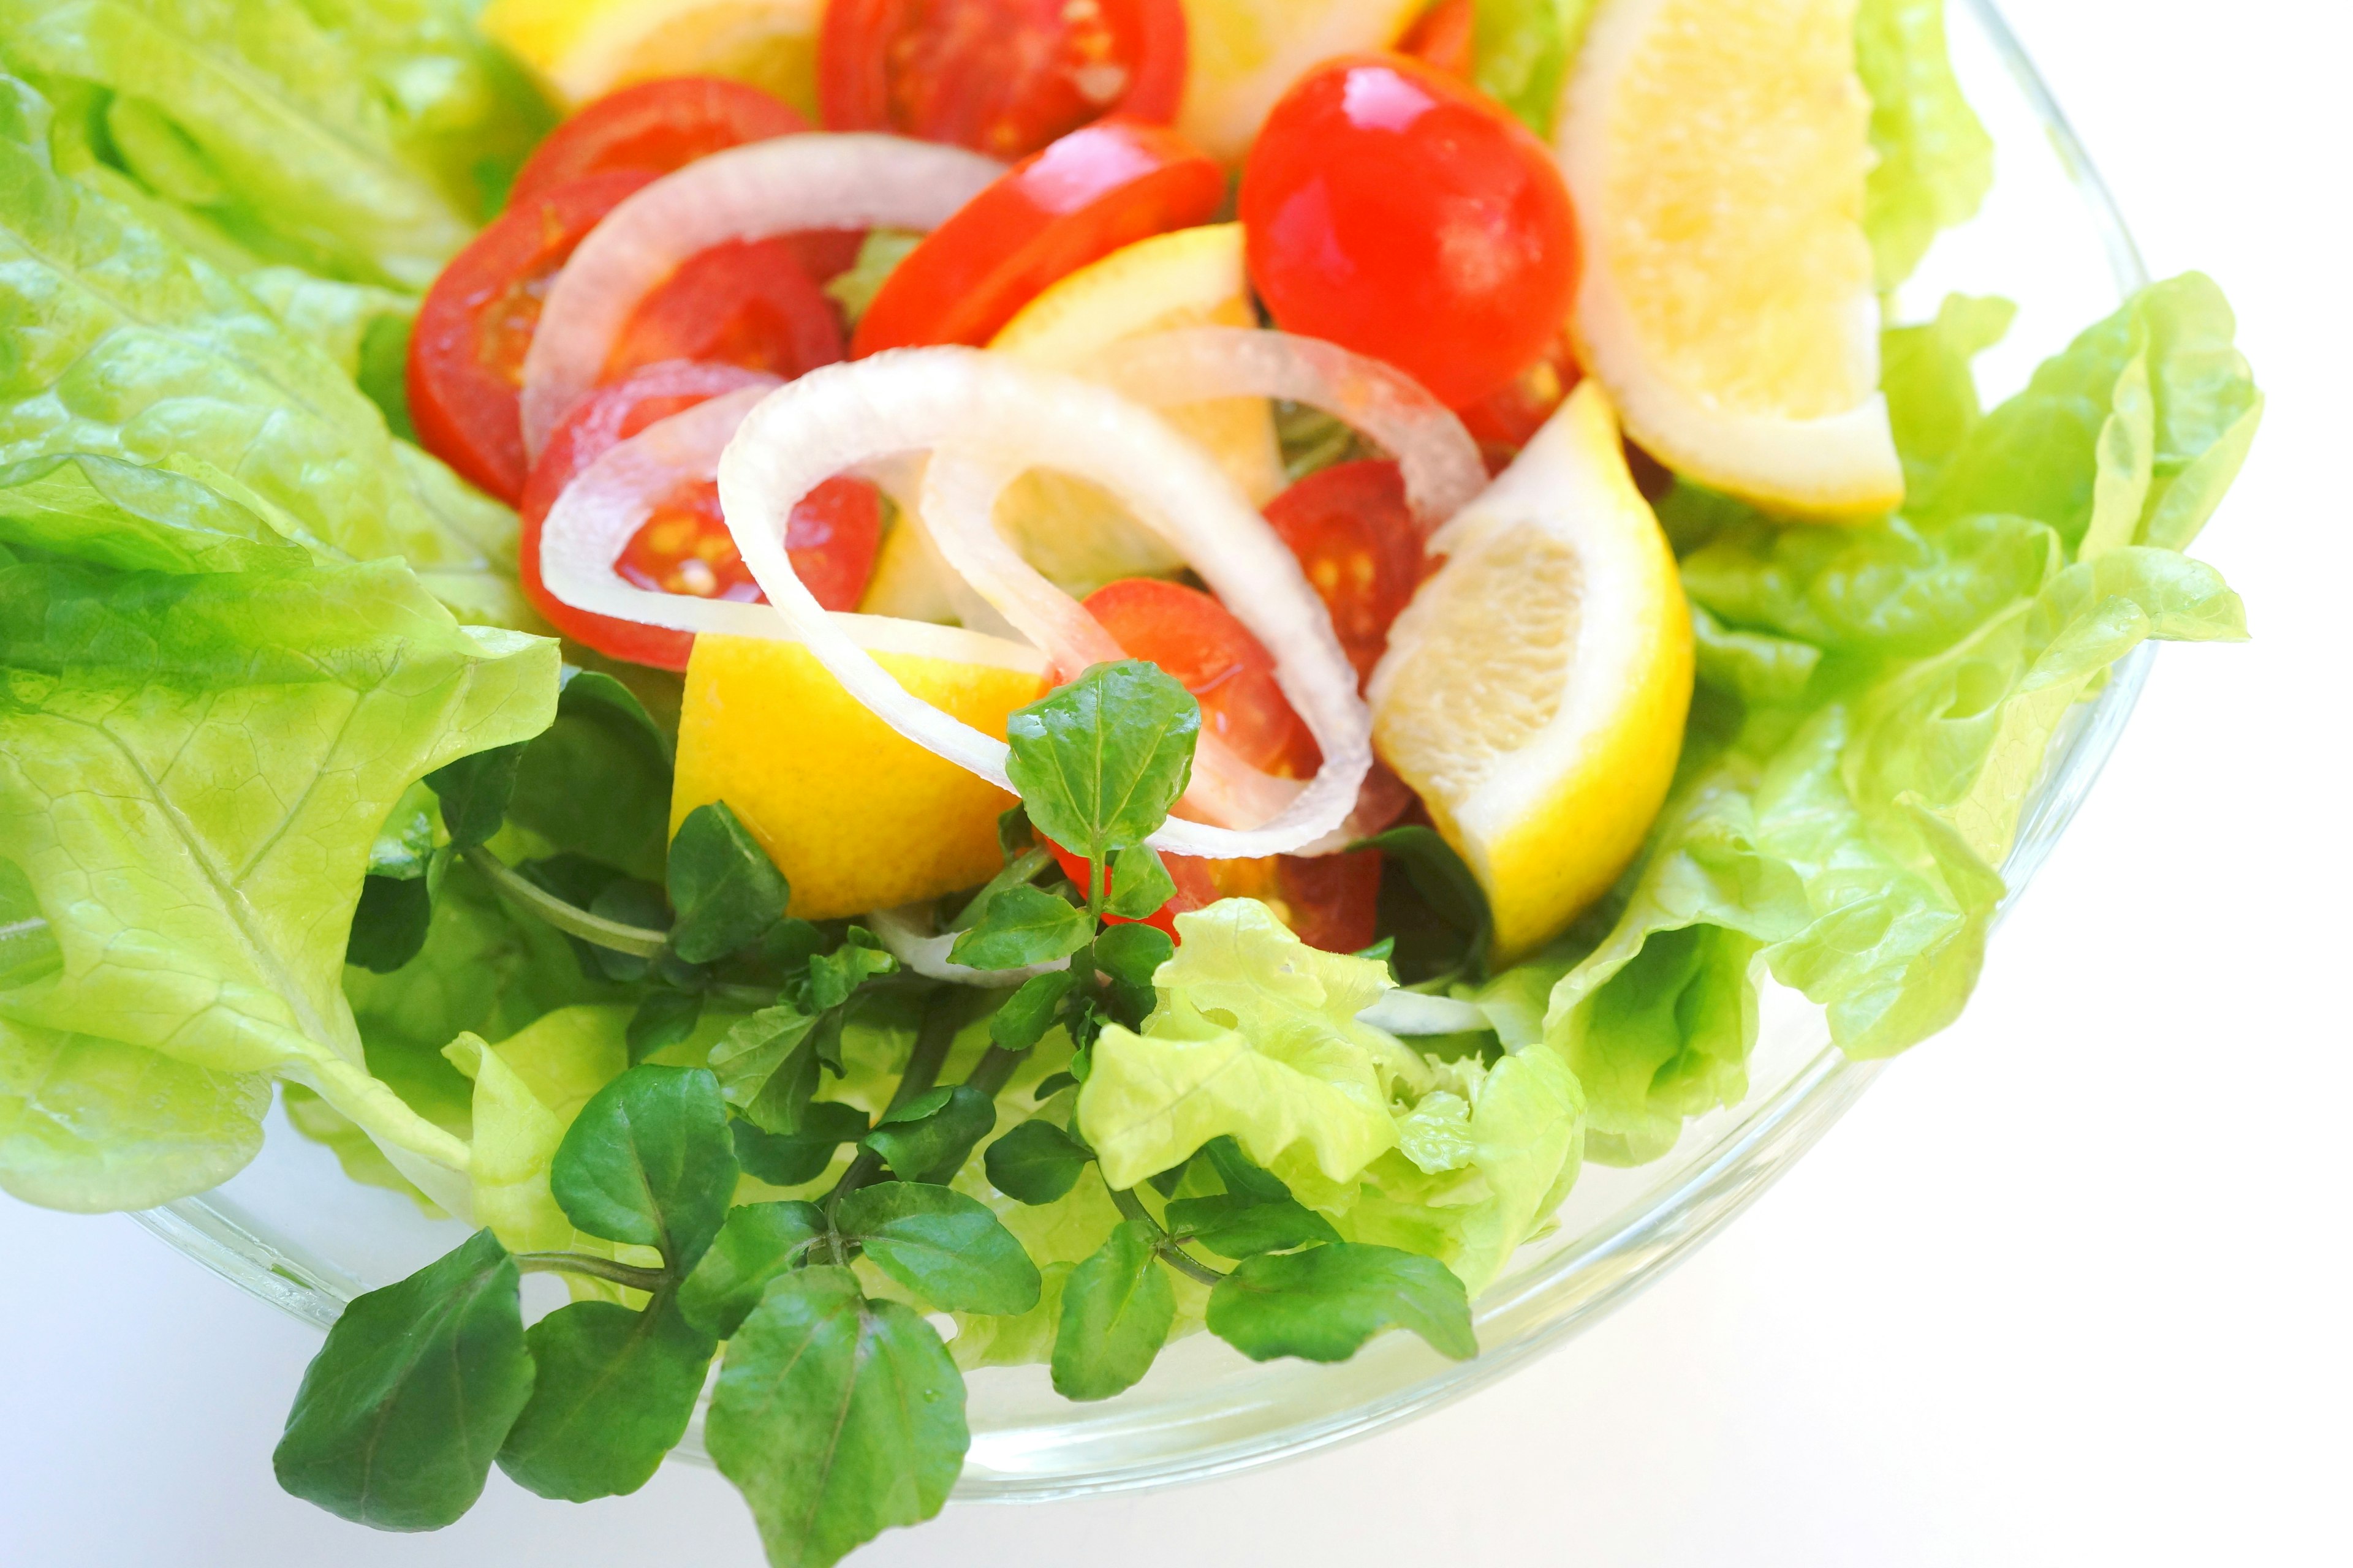
{"label": "large upright lemon slice at top right, cut face showing", "polygon": [[1671,468],[1800,517],[1904,498],[1868,120],[1854,0],[1605,0],[1562,96],[1586,367]]}

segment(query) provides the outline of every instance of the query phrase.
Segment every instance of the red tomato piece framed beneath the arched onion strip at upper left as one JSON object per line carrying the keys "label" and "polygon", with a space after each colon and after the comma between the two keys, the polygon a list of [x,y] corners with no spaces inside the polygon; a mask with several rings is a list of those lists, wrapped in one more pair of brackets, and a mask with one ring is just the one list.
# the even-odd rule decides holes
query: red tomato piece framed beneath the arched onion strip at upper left
{"label": "red tomato piece framed beneath the arched onion strip at upper left", "polygon": [[612,343],[605,381],[664,360],[807,374],[842,357],[842,317],[800,268],[798,235],[729,240],[687,256]]}

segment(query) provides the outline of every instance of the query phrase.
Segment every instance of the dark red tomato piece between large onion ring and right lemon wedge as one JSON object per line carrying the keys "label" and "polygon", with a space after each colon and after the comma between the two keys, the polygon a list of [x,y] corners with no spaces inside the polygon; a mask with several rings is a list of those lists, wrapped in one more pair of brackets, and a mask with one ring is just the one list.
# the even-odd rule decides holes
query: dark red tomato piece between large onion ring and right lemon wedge
{"label": "dark red tomato piece between large onion ring and right lemon wedge", "polygon": [[1332,611],[1362,684],[1388,646],[1388,623],[1421,583],[1421,543],[1398,465],[1365,458],[1318,468],[1266,503],[1266,522]]}

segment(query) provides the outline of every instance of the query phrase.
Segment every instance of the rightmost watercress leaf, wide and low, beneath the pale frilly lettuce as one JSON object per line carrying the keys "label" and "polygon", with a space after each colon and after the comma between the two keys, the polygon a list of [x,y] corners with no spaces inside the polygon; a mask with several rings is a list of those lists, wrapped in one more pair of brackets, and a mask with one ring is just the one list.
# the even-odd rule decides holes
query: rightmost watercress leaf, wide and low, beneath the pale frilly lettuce
{"label": "rightmost watercress leaf, wide and low, beneath the pale frilly lettuce", "polygon": [[1412,1328],[1457,1361],[1478,1354],[1464,1281],[1435,1258],[1393,1246],[1261,1253],[1209,1291],[1209,1333],[1252,1361],[1346,1361],[1384,1328]]}

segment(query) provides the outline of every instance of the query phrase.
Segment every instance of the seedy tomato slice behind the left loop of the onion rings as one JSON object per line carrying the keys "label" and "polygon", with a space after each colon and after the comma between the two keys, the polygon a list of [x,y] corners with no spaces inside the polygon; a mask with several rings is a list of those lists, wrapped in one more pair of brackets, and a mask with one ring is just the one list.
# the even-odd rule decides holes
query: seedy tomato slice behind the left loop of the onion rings
{"label": "seedy tomato slice behind the left loop of the onion rings", "polygon": [[[661,670],[687,668],[692,632],[595,616],[551,595],[539,576],[539,531],[565,484],[614,444],[659,418],[758,381],[753,371],[732,364],[654,364],[628,381],[598,388],[555,428],[522,487],[520,550],[522,592],[555,630],[612,658]],[[826,480],[793,508],[784,541],[793,571],[819,604],[854,609],[866,592],[866,578],[873,576],[875,548],[882,543],[882,503],[864,480]],[[727,534],[718,484],[708,480],[680,484],[628,541],[614,571],[640,588],[664,592],[751,602],[762,597]]]}

